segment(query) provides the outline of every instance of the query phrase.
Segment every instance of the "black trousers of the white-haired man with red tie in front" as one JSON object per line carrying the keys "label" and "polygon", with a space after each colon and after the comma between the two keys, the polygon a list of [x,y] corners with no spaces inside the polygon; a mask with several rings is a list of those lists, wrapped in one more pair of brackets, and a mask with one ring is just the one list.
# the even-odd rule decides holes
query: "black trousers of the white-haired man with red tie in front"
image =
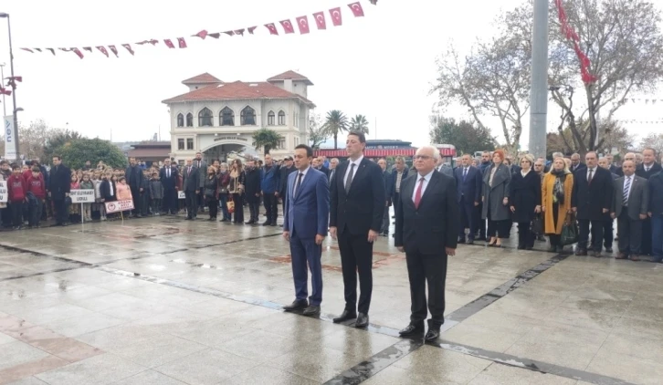
{"label": "black trousers of the white-haired man with red tie in front", "polygon": [[[445,281],[447,280],[447,255],[405,254],[407,276],[410,280],[412,315],[410,323],[423,327],[430,311],[428,328],[439,330],[445,322]],[[426,283],[428,299],[426,310]]]}

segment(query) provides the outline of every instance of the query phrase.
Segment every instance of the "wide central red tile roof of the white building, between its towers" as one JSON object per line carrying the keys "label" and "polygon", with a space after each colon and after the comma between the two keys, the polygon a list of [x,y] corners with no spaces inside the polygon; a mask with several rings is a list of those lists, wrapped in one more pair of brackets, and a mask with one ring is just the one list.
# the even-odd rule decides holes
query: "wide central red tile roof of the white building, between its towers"
{"label": "wide central red tile roof of the white building, between its towers", "polygon": [[232,100],[232,99],[300,99],[311,106],[313,102],[298,94],[286,91],[268,82],[245,83],[235,81],[219,85],[210,85],[195,89],[171,99],[165,99],[165,104],[197,101],[197,100]]}

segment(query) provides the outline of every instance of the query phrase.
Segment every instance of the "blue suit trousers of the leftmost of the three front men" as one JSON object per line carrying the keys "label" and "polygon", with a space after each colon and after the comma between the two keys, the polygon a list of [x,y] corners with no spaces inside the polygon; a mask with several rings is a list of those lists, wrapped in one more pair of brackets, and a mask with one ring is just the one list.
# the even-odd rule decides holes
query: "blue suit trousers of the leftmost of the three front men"
{"label": "blue suit trousers of the leftmost of the three front men", "polygon": [[290,236],[290,255],[292,255],[292,278],[295,281],[295,296],[298,300],[309,296],[310,268],[311,293],[309,304],[320,306],[322,302],[322,245],[315,244],[315,238],[300,238],[292,232]]}

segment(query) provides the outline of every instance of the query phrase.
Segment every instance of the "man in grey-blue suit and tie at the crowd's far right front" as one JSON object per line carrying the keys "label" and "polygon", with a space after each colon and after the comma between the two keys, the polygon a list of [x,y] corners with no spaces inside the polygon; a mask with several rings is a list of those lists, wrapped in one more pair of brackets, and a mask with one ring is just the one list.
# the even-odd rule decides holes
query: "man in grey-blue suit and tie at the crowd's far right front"
{"label": "man in grey-blue suit and tie at the crowd's far right front", "polygon": [[647,179],[635,175],[636,163],[624,161],[624,176],[616,179],[613,208],[610,216],[617,218],[619,255],[616,259],[639,261],[642,247],[642,223],[647,218],[649,189]]}

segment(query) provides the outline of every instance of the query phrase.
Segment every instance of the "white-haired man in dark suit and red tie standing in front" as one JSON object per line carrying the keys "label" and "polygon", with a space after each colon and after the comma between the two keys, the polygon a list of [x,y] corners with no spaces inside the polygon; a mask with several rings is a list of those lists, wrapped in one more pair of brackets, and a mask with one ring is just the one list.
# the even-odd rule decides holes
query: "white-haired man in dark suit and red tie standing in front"
{"label": "white-haired man in dark suit and red tie standing in front", "polygon": [[405,251],[412,298],[410,324],[399,333],[404,337],[423,333],[427,303],[428,341],[439,337],[445,321],[447,255],[456,255],[460,219],[456,181],[435,171],[438,156],[432,146],[416,151],[416,175],[405,181],[397,204],[394,243]]}

